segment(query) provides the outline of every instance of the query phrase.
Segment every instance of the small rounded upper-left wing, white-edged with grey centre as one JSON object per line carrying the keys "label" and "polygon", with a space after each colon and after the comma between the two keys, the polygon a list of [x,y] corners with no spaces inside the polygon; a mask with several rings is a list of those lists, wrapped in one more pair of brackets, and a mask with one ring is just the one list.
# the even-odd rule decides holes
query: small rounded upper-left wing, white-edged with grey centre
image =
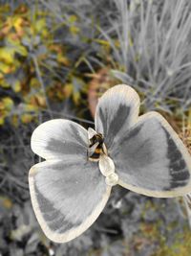
{"label": "small rounded upper-left wing, white-edged with grey centre", "polygon": [[87,153],[88,132],[73,121],[53,119],[34,129],[31,146],[45,159],[68,160]]}

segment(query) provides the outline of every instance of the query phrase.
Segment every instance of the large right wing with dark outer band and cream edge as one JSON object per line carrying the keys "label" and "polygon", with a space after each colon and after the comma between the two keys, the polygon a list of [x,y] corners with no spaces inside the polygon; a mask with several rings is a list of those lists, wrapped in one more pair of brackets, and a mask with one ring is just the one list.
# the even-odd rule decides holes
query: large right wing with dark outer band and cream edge
{"label": "large right wing with dark outer band and cream edge", "polygon": [[109,151],[119,184],[158,198],[191,191],[191,156],[178,134],[157,112],[138,118]]}

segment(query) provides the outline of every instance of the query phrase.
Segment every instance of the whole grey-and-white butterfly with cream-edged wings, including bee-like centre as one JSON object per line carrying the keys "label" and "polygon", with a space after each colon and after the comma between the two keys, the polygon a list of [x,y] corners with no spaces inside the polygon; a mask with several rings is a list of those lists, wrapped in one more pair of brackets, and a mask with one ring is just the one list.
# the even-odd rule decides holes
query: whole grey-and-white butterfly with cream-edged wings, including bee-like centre
{"label": "whole grey-and-white butterfly with cream-edged wings, including bee-like centre", "polygon": [[32,207],[46,236],[73,240],[102,212],[112,187],[156,198],[191,192],[191,156],[158,112],[138,116],[138,93],[119,84],[96,106],[95,129],[65,119],[41,124],[32,151],[45,161],[32,166]]}

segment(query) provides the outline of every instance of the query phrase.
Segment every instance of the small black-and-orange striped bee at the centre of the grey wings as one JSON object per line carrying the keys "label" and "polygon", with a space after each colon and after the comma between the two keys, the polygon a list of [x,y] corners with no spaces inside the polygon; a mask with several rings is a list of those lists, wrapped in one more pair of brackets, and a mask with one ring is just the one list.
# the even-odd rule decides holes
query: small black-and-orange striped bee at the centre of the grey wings
{"label": "small black-and-orange striped bee at the centre of the grey wings", "polygon": [[91,161],[98,161],[100,154],[107,155],[107,149],[104,144],[104,137],[93,128],[88,128],[89,148],[88,157]]}

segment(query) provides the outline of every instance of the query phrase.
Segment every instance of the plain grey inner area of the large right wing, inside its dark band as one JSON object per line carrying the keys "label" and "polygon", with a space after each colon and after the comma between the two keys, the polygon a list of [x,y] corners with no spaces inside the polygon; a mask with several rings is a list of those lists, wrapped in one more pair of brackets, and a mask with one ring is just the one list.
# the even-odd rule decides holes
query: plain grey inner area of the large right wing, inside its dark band
{"label": "plain grey inner area of the large right wing, inside its dark band", "polygon": [[146,123],[139,123],[111,151],[116,172],[124,182],[151,190],[168,186],[168,160],[164,159],[166,152],[159,149],[159,144],[165,144],[163,132],[158,135],[158,147],[153,145],[152,136],[158,129],[159,124],[153,123],[151,132]]}

